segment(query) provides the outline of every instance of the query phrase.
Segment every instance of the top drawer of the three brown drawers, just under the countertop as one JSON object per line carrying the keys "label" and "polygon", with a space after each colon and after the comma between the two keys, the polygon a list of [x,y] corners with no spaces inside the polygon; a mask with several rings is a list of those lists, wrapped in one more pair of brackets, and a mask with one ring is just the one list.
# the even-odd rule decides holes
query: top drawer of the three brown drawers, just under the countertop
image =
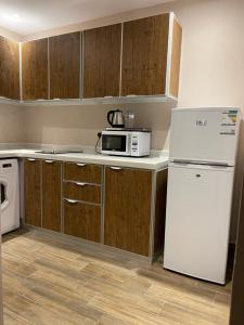
{"label": "top drawer of the three brown drawers, just under the countertop", "polygon": [[64,179],[101,184],[102,166],[81,162],[64,162]]}

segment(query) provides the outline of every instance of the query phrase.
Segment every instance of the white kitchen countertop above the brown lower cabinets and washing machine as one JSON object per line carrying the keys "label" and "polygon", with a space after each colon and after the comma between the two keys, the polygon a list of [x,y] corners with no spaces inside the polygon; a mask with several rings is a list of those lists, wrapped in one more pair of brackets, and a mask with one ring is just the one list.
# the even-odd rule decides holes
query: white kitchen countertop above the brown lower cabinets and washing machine
{"label": "white kitchen countertop above the brown lower cabinets and washing machine", "polygon": [[105,166],[119,166],[131,168],[143,168],[158,170],[167,168],[168,166],[168,152],[154,152],[149,157],[118,157],[101,155],[95,153],[67,153],[67,154],[40,154],[36,153],[37,150],[0,150],[0,158],[36,158],[36,159],[50,159],[62,161],[75,161],[98,164]]}

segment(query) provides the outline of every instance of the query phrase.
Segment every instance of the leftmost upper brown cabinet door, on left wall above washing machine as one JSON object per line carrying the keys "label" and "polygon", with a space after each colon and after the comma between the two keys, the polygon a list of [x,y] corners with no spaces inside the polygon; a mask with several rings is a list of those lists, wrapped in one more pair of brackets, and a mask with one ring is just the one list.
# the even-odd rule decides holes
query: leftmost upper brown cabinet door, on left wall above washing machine
{"label": "leftmost upper brown cabinet door, on left wall above washing machine", "polygon": [[20,46],[1,36],[0,96],[20,100]]}

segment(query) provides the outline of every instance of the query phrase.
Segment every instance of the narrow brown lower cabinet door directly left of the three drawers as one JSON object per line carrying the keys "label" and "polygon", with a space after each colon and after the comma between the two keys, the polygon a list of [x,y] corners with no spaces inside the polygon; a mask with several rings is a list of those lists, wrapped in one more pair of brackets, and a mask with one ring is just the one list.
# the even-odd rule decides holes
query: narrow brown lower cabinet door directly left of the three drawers
{"label": "narrow brown lower cabinet door directly left of the three drawers", "polygon": [[42,161],[42,227],[61,232],[61,161]]}

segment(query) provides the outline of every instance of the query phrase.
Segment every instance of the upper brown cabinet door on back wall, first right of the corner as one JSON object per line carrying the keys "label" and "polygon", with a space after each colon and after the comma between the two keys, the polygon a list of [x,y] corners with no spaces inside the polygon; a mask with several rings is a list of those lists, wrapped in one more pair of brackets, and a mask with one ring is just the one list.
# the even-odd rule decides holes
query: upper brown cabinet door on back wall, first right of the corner
{"label": "upper brown cabinet door on back wall, first right of the corner", "polygon": [[22,44],[23,100],[48,99],[48,39]]}

